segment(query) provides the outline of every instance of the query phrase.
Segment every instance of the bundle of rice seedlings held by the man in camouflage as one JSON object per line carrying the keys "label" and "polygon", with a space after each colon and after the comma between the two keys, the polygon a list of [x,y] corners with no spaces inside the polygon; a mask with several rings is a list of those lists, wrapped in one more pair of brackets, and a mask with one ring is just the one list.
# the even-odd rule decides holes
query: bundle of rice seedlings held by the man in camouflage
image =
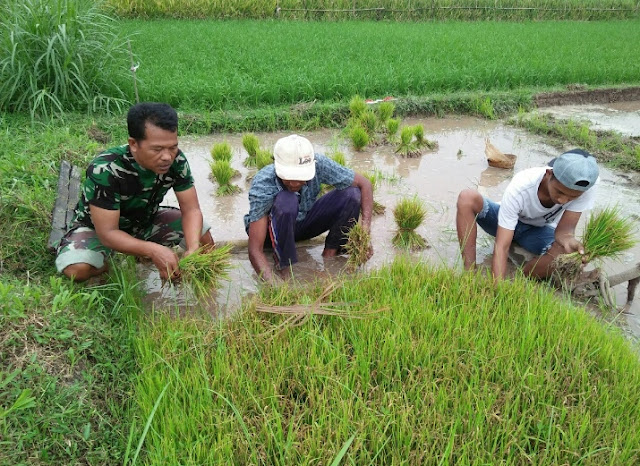
{"label": "bundle of rice seedlings held by the man in camouflage", "polygon": [[211,294],[222,279],[229,277],[232,246],[202,246],[178,262],[180,281],[191,288],[197,297]]}

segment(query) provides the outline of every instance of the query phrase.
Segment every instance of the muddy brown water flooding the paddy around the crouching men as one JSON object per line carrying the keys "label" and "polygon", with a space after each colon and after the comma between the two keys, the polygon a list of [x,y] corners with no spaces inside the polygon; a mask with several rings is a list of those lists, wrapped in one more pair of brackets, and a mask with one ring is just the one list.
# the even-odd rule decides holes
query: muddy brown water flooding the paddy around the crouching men
{"label": "muddy brown water flooding the paddy around the crouching men", "polygon": [[[317,152],[330,154],[342,151],[347,163],[359,172],[378,171],[382,181],[378,183],[374,198],[385,205],[384,215],[375,216],[372,222],[374,256],[366,264],[365,270],[379,268],[391,261],[398,251],[391,245],[395,233],[393,207],[407,196],[417,195],[428,206],[428,217],[417,230],[430,247],[415,255],[425,261],[448,267],[461,267],[460,253],[455,233],[455,203],[458,193],[465,188],[475,188],[493,199],[500,199],[514,171],[546,164],[558,151],[537,137],[523,130],[506,126],[500,122],[490,122],[472,117],[448,117],[444,119],[408,119],[406,124],[421,123],[425,135],[438,142],[438,148],[424,151],[418,158],[402,158],[390,146],[368,148],[362,152],[352,150],[339,130],[301,132],[314,144]],[[257,133],[261,145],[272,148],[275,141],[290,133]],[[485,139],[503,152],[518,156],[514,171],[488,167],[485,155]],[[200,198],[205,221],[212,226],[212,234],[217,242],[232,242],[236,245],[233,254],[234,269],[231,279],[224,283],[213,298],[216,305],[212,312],[219,316],[233,312],[243,296],[255,292],[257,277],[247,256],[247,236],[244,231],[243,215],[248,212],[247,178],[255,173],[242,165],[247,157],[242,147],[241,134],[212,135],[200,138],[181,138],[180,145],[191,164],[196,188]],[[227,141],[234,148],[232,165],[241,173],[235,183],[242,193],[218,197],[216,184],[210,179],[210,150],[213,144]],[[603,168],[597,207],[614,203],[624,206],[629,215],[640,219],[640,205],[637,201],[637,184],[623,173]],[[165,204],[177,205],[175,197],[168,196]],[[490,264],[493,249],[492,238],[480,232],[478,235],[478,263]],[[344,257],[323,261],[321,253],[323,239],[319,238],[299,245],[300,262],[293,267],[294,276],[302,281],[318,276],[334,275],[346,263]],[[626,254],[622,264],[607,265],[610,271],[628,267],[640,260],[640,248]],[[184,307],[193,299],[180,289],[165,289],[159,285],[157,273],[148,269],[144,272],[149,299],[156,305]],[[618,294],[622,300],[625,290],[622,286]],[[625,317],[627,329],[640,336],[640,297],[632,309],[632,315]]]}

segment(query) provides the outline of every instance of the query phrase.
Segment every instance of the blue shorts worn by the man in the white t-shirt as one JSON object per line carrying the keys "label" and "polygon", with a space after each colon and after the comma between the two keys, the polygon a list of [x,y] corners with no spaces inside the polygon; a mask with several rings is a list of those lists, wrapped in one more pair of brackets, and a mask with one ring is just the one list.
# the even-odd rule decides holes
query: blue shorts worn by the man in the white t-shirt
{"label": "blue shorts worn by the man in the white t-shirt", "polygon": [[[483,197],[482,212],[476,217],[476,223],[491,236],[498,231],[498,212],[500,204]],[[556,229],[550,225],[534,227],[518,221],[513,232],[513,241],[530,253],[541,256],[555,241]]]}

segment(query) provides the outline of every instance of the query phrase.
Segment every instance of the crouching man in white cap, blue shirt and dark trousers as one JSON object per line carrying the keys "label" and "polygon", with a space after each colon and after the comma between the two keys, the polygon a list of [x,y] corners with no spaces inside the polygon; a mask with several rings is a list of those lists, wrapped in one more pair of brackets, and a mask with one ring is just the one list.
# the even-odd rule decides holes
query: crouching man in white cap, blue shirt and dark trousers
{"label": "crouching man in white cap, blue shirt and dark trousers", "polygon": [[[293,134],[273,148],[274,164],[260,170],[249,189],[249,260],[256,273],[271,282],[271,266],[264,247],[273,249],[277,270],[298,261],[296,241],[329,231],[323,257],[343,252],[346,235],[362,211],[362,226],[371,229],[371,182],[328,157],[314,154],[311,142]],[[320,185],[336,189],[318,199]],[[372,254],[373,251],[370,251]]]}

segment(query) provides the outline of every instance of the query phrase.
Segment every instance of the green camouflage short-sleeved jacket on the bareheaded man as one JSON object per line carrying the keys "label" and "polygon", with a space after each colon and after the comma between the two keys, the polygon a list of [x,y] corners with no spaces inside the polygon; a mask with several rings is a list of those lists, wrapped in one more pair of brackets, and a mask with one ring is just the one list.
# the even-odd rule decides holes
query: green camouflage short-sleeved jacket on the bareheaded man
{"label": "green camouflage short-sleeved jacket on the bareheaded man", "polygon": [[156,175],[138,165],[128,145],[108,149],[87,168],[72,228],[94,228],[89,214],[89,205],[94,205],[120,210],[120,229],[134,234],[151,225],[169,189],[180,192],[192,186],[191,169],[182,151],[167,173]]}

